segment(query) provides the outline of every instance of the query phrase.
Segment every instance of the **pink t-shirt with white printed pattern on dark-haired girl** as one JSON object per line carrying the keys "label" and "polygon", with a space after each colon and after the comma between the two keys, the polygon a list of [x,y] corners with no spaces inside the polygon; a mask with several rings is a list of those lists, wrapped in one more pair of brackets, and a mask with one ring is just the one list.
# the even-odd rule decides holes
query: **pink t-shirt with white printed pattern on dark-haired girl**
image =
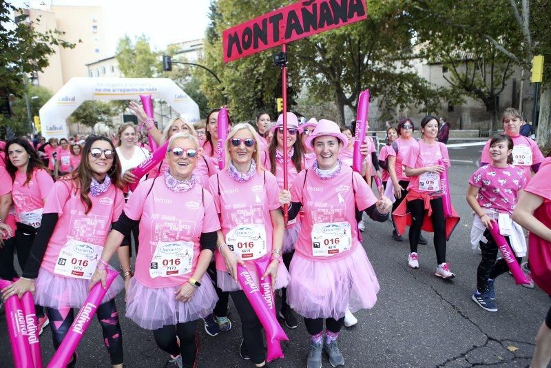
{"label": "pink t-shirt with white printed pattern on dark-haired girl", "polygon": [[470,176],[469,184],[479,187],[477,201],[482,208],[512,214],[518,192],[526,186],[522,167],[484,165]]}

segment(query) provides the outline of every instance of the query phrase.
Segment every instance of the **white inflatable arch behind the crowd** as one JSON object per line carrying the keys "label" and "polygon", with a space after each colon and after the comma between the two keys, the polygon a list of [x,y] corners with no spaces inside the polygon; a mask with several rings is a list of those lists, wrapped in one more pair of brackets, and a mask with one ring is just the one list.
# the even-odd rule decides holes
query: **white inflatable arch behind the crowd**
{"label": "white inflatable arch behind the crowd", "polygon": [[42,136],[67,138],[66,119],[87,100],[138,100],[141,94],[165,100],[189,123],[199,121],[199,107],[168,78],[72,78],[40,109]]}

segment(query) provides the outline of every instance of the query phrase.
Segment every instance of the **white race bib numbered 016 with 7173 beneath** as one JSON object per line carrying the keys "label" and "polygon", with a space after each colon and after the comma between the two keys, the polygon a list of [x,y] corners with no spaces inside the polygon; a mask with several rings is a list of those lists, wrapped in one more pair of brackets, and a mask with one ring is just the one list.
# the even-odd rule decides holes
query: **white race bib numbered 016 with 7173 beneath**
{"label": "white race bib numbered 016 with 7173 beneath", "polygon": [[149,264],[149,276],[169,277],[189,274],[194,259],[194,242],[160,241]]}

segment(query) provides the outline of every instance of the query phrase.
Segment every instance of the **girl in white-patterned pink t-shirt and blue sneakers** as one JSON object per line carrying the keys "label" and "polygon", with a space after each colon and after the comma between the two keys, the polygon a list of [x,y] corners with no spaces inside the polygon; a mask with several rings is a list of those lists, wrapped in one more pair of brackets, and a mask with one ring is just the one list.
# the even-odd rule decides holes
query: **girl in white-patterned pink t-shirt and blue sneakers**
{"label": "girl in white-patterned pink t-shirt and blue sneakers", "polygon": [[509,229],[505,238],[521,263],[526,256],[526,239],[519,225],[511,221],[517,204],[518,192],[526,186],[526,177],[521,167],[512,165],[513,143],[510,136],[497,134],[490,140],[492,163],[480,167],[469,179],[467,203],[475,212],[471,227],[472,247],[480,248],[482,259],[477,269],[477,289],[472,300],[482,309],[497,311],[494,280],[509,271],[506,260],[497,259],[497,244],[490,229],[495,223],[500,229]]}

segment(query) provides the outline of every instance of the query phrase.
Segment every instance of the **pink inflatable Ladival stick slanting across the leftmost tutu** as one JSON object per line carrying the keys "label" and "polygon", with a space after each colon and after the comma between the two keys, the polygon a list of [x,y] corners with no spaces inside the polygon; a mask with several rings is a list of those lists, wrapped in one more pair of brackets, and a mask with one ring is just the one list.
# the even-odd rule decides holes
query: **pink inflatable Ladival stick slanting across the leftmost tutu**
{"label": "pink inflatable Ladival stick slanting across the leftmost tutu", "polygon": [[101,300],[107,293],[107,289],[113,283],[113,280],[118,275],[118,272],[113,269],[107,269],[107,282],[105,283],[105,289],[101,286],[101,283],[97,283],[92,287],[90,294],[84,301],[79,314],[74,318],[74,322],[71,325],[69,331],[63,338],[61,345],[56,350],[52,360],[48,363],[48,368],[60,368],[65,367],[71,360],[76,347],[79,346],[86,329],[90,325],[90,321],[96,314],[98,306],[101,304]]}

